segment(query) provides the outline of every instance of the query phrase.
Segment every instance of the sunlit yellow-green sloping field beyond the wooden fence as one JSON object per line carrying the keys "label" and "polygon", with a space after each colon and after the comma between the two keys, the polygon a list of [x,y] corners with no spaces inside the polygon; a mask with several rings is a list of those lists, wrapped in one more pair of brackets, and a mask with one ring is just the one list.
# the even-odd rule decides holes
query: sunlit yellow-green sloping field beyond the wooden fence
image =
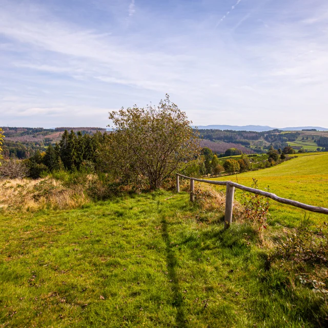
{"label": "sunlit yellow-green sloping field beyond the wooden fence", "polygon": [[[295,154],[297,158],[272,168],[229,176],[231,181],[251,186],[258,180],[259,189],[270,187],[278,196],[298,200],[314,206],[328,208],[328,153]],[[228,177],[216,178],[227,180]],[[215,179],[215,180],[216,180]],[[241,192],[237,192],[237,199]],[[294,226],[305,211],[271,201],[271,220],[279,224]],[[306,212],[316,222],[327,220],[327,216]]]}

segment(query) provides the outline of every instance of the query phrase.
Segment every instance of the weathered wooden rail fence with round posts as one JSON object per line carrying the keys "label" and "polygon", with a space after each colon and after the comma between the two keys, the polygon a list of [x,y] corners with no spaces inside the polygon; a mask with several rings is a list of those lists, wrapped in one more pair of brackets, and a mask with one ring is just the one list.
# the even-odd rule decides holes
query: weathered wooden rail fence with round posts
{"label": "weathered wooden rail fence with round posts", "polygon": [[241,189],[243,191],[248,191],[248,192],[253,193],[253,194],[268,197],[268,198],[271,198],[275,201],[278,201],[279,203],[288,204],[288,205],[298,207],[298,208],[306,210],[306,211],[317,212],[317,213],[322,213],[322,214],[327,214],[328,215],[328,209],[326,209],[326,208],[316,207],[316,206],[301,203],[301,202],[296,201],[296,200],[282,198],[282,197],[277,196],[276,194],[269,193],[267,191],[263,191],[263,190],[254,189],[254,188],[246,187],[246,186],[243,186],[243,185],[239,185],[239,183],[236,183],[236,182],[196,179],[196,178],[191,178],[189,176],[185,176],[185,175],[178,174],[178,173],[176,174],[176,192],[177,193],[180,192],[179,177],[190,179],[190,200],[191,201],[195,200],[195,197],[194,197],[195,181],[210,183],[211,185],[227,186],[227,189],[226,189],[226,210],[224,212],[224,229],[228,229],[231,225],[235,188]]}

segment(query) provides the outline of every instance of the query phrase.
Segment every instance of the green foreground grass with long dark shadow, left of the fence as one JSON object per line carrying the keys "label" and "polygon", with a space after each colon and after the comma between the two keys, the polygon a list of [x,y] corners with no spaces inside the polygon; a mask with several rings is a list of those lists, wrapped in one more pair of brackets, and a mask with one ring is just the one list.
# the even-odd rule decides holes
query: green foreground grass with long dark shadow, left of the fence
{"label": "green foreground grass with long dark shadow, left of the fence", "polygon": [[254,229],[223,231],[222,212],[188,198],[161,191],[2,217],[0,326],[324,325],[320,297],[270,265]]}

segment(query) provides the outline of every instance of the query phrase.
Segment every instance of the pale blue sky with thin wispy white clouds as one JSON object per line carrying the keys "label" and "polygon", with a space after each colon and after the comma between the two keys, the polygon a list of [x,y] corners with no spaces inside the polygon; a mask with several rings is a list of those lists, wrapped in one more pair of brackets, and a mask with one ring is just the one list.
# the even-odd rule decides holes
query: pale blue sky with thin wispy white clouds
{"label": "pale blue sky with thin wispy white clouds", "polygon": [[106,127],[166,93],[193,125],[328,127],[328,2],[0,0],[0,126]]}

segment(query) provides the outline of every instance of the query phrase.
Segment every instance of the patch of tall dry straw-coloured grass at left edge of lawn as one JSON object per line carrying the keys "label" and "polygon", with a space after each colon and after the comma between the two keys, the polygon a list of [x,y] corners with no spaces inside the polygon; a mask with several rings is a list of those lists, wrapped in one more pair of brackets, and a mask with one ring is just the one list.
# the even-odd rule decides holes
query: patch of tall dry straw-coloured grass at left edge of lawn
{"label": "patch of tall dry straw-coloured grass at left edge of lawn", "polygon": [[49,178],[3,180],[0,187],[0,209],[6,212],[74,209],[89,201],[81,186],[68,189]]}

